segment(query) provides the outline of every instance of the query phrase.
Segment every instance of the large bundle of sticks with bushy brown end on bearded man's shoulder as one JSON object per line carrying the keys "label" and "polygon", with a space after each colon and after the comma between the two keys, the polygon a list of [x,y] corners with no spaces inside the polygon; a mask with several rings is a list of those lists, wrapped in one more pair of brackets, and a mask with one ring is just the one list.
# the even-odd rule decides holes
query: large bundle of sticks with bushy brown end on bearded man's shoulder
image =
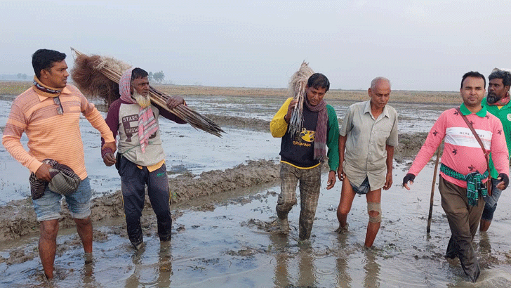
{"label": "large bundle of sticks with bushy brown end on bearded man's shoulder", "polygon": [[[110,106],[113,100],[120,97],[119,80],[124,71],[131,68],[131,66],[114,58],[98,55],[88,56],[77,51],[77,49],[71,48],[71,50],[76,54],[75,66],[71,73],[75,84],[77,84],[81,91],[88,93],[90,96],[103,98],[107,105]],[[104,79],[105,77],[107,79]],[[158,105],[168,112],[175,114],[195,129],[201,129],[218,137],[222,137],[220,133],[225,133],[213,120],[202,116],[190,109],[190,107],[181,104],[173,109],[169,109],[166,101],[171,96],[154,89],[152,86],[150,87],[149,94],[154,105]]]}

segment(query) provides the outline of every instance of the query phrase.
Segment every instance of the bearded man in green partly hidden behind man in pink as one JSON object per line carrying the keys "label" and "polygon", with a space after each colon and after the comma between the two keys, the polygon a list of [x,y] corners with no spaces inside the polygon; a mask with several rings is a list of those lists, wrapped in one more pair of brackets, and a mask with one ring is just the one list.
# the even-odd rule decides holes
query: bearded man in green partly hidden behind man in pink
{"label": "bearded man in green partly hidden behind man in pink", "polygon": [[[504,128],[507,150],[509,151],[511,150],[511,103],[509,93],[511,74],[504,70],[494,69],[488,79],[488,96],[483,99],[482,105],[486,107],[488,112],[500,119]],[[493,213],[497,209],[497,201],[503,188],[497,185],[500,180],[498,179],[498,172],[493,166],[493,162],[490,162],[490,172],[493,181],[491,195],[485,199],[486,204],[484,204],[484,211],[479,225],[479,230],[483,232],[490,228]]]}

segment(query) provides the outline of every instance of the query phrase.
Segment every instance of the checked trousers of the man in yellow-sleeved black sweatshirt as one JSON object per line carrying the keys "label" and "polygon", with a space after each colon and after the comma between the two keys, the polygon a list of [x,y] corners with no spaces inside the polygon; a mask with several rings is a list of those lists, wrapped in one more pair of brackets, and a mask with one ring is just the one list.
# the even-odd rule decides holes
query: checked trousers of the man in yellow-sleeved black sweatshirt
{"label": "checked trousers of the man in yellow-sleeved black sweatshirt", "polygon": [[287,163],[280,164],[281,193],[277,200],[277,216],[287,218],[296,200],[296,185],[300,181],[300,240],[310,237],[316,215],[319,188],[321,187],[321,166],[299,169]]}

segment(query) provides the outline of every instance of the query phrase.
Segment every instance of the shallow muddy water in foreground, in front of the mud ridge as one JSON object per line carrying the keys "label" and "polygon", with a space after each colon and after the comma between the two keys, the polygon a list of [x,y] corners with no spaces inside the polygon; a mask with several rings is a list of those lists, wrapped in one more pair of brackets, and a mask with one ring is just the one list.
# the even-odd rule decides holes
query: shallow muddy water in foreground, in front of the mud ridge
{"label": "shallow muddy water in foreground, in front of the mud ridge", "polygon": [[[394,182],[404,176],[399,168]],[[349,233],[338,235],[333,230],[340,186],[322,188],[310,243],[298,244],[298,207],[289,214],[290,235],[281,236],[274,231],[279,187],[257,187],[239,191],[248,195],[232,194],[213,211],[173,207],[178,217],[170,245],[154,236],[150,214],[144,216],[152,221],[142,251],[130,247],[122,221],[95,223],[88,264],[74,231],[62,231],[51,287],[510,287],[510,213],[499,209],[489,233],[477,233],[482,274],[476,284],[467,282],[460,263],[442,256],[449,226],[437,191],[430,237],[425,233],[431,178],[432,165],[411,192],[398,185],[384,192],[383,222],[373,249],[363,247],[368,219],[363,197],[355,198]],[[325,186],[326,174],[322,180]],[[500,201],[500,207],[511,204],[509,197]],[[0,264],[0,286],[48,285],[41,278],[36,238],[19,243],[1,252],[7,260]]]}

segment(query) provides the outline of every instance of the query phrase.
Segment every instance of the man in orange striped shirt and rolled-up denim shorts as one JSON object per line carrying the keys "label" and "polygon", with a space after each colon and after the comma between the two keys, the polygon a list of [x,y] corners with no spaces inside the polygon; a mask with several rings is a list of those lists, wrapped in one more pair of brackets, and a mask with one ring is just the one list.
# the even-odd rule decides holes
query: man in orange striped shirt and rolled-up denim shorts
{"label": "man in orange striped shirt and rolled-up denim shorts", "polygon": [[[87,177],[84,145],[81,141],[79,119],[84,114],[88,122],[105,138],[102,150],[115,151],[115,139],[100,112],[88,103],[80,91],[67,84],[66,55],[58,51],[39,49],[32,55],[34,84],[15,98],[7,119],[2,143],[6,150],[32,175],[31,192],[37,221],[40,223],[39,256],[48,279],[53,278],[60,200],[58,187],[62,175],[55,175],[55,164],[65,165],[72,172],[76,192],[66,195],[67,207],[77,223],[86,261],[92,253],[93,230],[91,218],[91,186]],[[26,151],[20,143],[27,134]],[[53,161],[47,162],[46,159]],[[56,163],[55,163],[56,162]],[[47,164],[48,163],[48,164]],[[69,172],[69,173],[71,173]],[[79,179],[74,176],[79,176]],[[54,179],[55,178],[55,179]],[[49,183],[49,185],[48,185]],[[58,184],[60,183],[60,184]]]}

